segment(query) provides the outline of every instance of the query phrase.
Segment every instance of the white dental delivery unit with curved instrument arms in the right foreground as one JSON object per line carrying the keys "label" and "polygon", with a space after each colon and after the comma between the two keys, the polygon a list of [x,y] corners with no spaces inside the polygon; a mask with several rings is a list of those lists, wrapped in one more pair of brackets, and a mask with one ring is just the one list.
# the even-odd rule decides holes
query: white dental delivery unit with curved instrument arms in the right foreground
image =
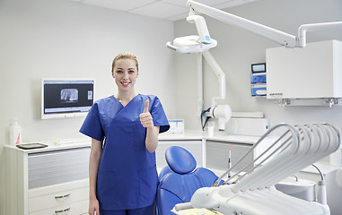
{"label": "white dental delivery unit with curved instrument arms in the right foreground", "polygon": [[[271,135],[278,138],[265,152],[245,168],[233,172],[241,160]],[[275,185],[338,150],[339,144],[338,129],[329,124],[276,125],[219,177],[212,187],[199,188],[190,202],[175,205],[172,212],[181,215],[183,210],[205,208],[234,215],[329,215],[324,180],[318,183],[317,202],[277,191]],[[223,185],[217,186],[230,173],[233,173],[232,176]]]}

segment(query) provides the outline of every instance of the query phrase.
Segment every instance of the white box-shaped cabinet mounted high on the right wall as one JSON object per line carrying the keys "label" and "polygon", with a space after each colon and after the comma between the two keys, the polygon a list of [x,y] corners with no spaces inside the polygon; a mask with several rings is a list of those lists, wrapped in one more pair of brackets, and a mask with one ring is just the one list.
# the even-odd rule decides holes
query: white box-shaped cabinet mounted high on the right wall
{"label": "white box-shaped cabinet mounted high on the right wall", "polygon": [[342,98],[342,42],[268,48],[267,99]]}

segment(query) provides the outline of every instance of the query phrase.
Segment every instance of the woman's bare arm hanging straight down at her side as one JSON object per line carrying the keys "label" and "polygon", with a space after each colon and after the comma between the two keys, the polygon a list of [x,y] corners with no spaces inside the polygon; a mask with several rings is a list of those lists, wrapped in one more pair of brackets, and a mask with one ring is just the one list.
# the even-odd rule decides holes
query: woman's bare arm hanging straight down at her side
{"label": "woman's bare arm hanging straight down at her side", "polygon": [[92,139],[92,150],[89,158],[89,214],[100,214],[100,205],[96,197],[97,174],[102,153],[102,142]]}

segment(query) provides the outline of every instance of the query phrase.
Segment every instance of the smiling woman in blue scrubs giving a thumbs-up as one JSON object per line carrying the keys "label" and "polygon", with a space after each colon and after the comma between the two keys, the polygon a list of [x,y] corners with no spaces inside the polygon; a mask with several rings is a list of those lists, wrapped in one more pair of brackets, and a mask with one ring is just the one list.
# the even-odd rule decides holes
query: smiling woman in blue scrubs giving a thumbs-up
{"label": "smiling woman in blue scrubs giving a thumbs-up", "polygon": [[111,73],[118,94],[96,101],[80,129],[92,138],[89,214],[154,215],[158,185],[154,151],[158,133],[170,125],[156,96],[135,91],[136,56],[127,52],[116,56]]}

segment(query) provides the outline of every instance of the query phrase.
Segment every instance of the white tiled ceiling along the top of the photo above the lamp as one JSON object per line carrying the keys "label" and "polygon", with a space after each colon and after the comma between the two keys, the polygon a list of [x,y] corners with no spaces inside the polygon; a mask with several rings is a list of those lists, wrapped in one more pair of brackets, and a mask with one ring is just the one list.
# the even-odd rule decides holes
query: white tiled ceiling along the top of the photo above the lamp
{"label": "white tiled ceiling along the top of the photo above the lamp", "polygon": [[[81,4],[91,4],[112,10],[135,13],[153,18],[177,21],[187,17],[187,0],[71,0]],[[197,2],[224,9],[256,0],[197,0]]]}

